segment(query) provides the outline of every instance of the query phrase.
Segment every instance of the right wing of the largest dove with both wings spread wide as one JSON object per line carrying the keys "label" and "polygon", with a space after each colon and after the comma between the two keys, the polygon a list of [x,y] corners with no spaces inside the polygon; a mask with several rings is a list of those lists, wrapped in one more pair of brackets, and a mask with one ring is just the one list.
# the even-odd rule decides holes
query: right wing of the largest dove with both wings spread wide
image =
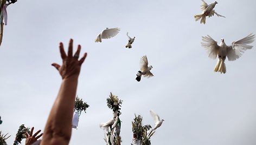
{"label": "right wing of the largest dove with both wings spread wide", "polygon": [[229,61],[234,61],[242,56],[242,54],[247,49],[252,49],[253,46],[247,45],[254,41],[255,35],[249,34],[245,38],[240,39],[239,41],[233,42],[227,47],[227,57]]}

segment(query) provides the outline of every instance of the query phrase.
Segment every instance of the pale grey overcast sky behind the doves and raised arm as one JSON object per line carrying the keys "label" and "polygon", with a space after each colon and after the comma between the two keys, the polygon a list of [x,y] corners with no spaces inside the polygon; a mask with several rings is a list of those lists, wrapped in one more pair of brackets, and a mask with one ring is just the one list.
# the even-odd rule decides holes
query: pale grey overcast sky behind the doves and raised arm
{"label": "pale grey overcast sky behind the doves and raised arm", "polygon": [[[208,4],[212,1],[206,1]],[[201,1],[18,1],[9,5],[0,47],[0,130],[12,144],[18,127],[44,129],[61,77],[50,64],[61,63],[59,43],[87,52],[77,95],[89,104],[70,144],[106,144],[99,123],[112,118],[106,98],[112,92],[123,104],[123,143],[132,141],[134,114],[153,126],[149,110],[165,121],[151,137],[153,145],[255,145],[256,43],[241,58],[226,60],[227,73],[214,73],[201,47],[210,35],[227,45],[256,33],[255,0],[218,1],[220,15],[195,22]],[[95,43],[106,27],[116,37]],[[135,36],[125,48],[126,32]],[[148,56],[151,78],[135,80],[140,58]],[[22,144],[24,144],[22,141]]]}

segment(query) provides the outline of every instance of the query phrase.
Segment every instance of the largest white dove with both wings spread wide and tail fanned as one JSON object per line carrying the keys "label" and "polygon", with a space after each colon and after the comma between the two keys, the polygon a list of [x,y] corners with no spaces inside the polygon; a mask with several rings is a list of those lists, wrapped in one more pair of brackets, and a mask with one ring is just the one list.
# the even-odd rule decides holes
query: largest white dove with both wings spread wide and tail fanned
{"label": "largest white dove with both wings spread wide and tail fanned", "polygon": [[234,41],[231,45],[227,46],[222,38],[220,45],[217,45],[217,42],[214,41],[209,35],[202,37],[202,47],[206,48],[209,57],[215,59],[217,56],[219,60],[215,66],[214,71],[219,71],[220,73],[226,73],[226,65],[224,61],[228,57],[229,61],[234,61],[238,59],[247,49],[251,49],[253,46],[247,45],[254,41],[255,35],[249,34],[245,38],[240,39],[239,41]]}

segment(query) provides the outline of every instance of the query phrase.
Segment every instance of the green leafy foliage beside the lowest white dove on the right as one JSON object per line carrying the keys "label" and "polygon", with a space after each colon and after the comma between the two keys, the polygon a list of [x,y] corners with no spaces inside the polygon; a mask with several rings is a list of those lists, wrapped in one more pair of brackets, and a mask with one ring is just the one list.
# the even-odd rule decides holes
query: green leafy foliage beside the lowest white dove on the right
{"label": "green leafy foliage beside the lowest white dove on the right", "polygon": [[140,140],[142,145],[151,144],[150,137],[148,137],[148,130],[152,127],[150,125],[142,126],[142,116],[138,115],[132,121],[132,132],[136,135],[136,139]]}

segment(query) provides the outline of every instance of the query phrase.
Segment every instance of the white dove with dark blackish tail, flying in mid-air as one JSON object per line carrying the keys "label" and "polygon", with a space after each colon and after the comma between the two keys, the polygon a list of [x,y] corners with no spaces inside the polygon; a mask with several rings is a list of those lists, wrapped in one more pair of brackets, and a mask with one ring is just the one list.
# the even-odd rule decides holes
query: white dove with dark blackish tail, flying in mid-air
{"label": "white dove with dark blackish tail, flying in mid-air", "polygon": [[142,56],[142,58],[140,59],[140,65],[141,65],[141,67],[140,67],[140,70],[138,71],[138,73],[137,73],[137,77],[136,77],[136,80],[139,82],[140,81],[140,79],[142,78],[142,75],[144,76],[144,77],[152,77],[152,76],[154,76],[151,72],[150,72],[150,70],[153,68],[152,67],[152,65],[149,65],[149,67],[148,67],[148,64],[149,64],[149,62],[148,62],[148,58],[146,57],[146,55],[145,56]]}

